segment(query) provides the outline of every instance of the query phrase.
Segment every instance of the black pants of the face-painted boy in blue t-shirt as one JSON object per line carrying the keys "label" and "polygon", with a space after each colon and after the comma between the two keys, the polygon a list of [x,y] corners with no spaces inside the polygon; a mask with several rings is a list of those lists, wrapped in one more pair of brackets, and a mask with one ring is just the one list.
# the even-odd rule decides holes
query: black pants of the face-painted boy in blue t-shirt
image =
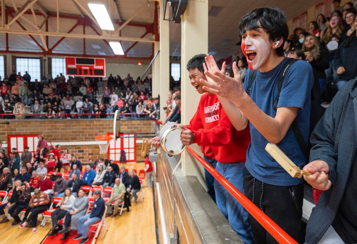
{"label": "black pants of the face-painted boy in blue t-shirt", "polygon": [[[258,181],[247,170],[243,181],[244,193],[294,240],[301,243],[303,184],[270,185]],[[249,222],[257,244],[278,243],[252,215]]]}

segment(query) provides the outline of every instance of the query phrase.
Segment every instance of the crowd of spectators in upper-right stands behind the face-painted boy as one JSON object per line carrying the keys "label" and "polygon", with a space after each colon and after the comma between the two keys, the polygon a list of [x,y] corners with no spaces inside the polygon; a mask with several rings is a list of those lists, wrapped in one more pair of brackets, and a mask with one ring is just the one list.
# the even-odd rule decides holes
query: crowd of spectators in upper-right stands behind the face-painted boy
{"label": "crowd of spectators in upper-right stands behind the face-painted boy", "polygon": [[352,2],[340,6],[330,16],[319,14],[308,30],[297,27],[285,42],[285,56],[302,59],[312,66],[312,99],[331,102],[337,90],[357,76],[357,15]]}

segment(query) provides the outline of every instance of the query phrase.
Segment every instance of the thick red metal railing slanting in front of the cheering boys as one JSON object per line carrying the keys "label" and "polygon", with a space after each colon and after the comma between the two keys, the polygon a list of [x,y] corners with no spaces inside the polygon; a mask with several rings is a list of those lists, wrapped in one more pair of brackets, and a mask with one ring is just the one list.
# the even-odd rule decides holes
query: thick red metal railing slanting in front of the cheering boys
{"label": "thick red metal railing slanting in front of the cheering boys", "polygon": [[[297,242],[290,237],[282,228],[279,227],[271,218],[263,213],[254,203],[251,202],[243,193],[241,193],[237,188],[235,188],[231,183],[229,183],[220,173],[216,171],[210,164],[208,164],[205,159],[200,157],[192,148],[186,147],[187,151],[195,157],[198,162],[200,162],[203,167],[207,169],[208,172],[212,174],[215,179],[223,185],[226,190],[232,194],[232,196],[237,199],[237,201],[242,204],[242,206],[250,213],[264,229],[272,235],[272,237],[279,243],[291,243],[297,244]],[[278,211],[278,209],[277,209]]]}

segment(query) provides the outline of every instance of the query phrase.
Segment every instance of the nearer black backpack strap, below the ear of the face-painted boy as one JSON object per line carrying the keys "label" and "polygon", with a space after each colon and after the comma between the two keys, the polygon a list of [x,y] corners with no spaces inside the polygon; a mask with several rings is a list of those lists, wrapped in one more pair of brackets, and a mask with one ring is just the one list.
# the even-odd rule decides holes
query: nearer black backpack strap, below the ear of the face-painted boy
{"label": "nearer black backpack strap, below the ear of the face-painted boy", "polygon": [[[293,63],[297,62],[297,61],[298,61],[298,59],[289,59],[289,60],[285,63],[283,69],[281,70],[281,72],[280,72],[280,74],[279,74],[279,77],[278,77],[278,95],[277,95],[276,100],[275,100],[275,103],[274,103],[274,105],[273,105],[273,108],[274,108],[275,111],[276,111],[277,106],[278,106],[278,101],[279,101],[279,97],[280,97],[280,92],[281,92],[281,89],[282,89],[282,87],[283,87],[283,83],[284,83],[285,76],[286,76],[286,74],[288,73],[288,71],[289,71],[291,65],[292,65]],[[306,144],[305,141],[304,141],[304,138],[302,137],[302,134],[301,134],[301,132],[300,132],[300,130],[299,130],[299,128],[298,128],[297,123],[296,123],[295,120],[294,120],[294,121],[292,122],[292,124],[291,124],[291,129],[292,129],[292,131],[294,132],[294,135],[295,135],[296,140],[297,140],[297,142],[298,142],[298,144],[299,144],[299,146],[300,146],[300,149],[301,149],[302,153],[303,153],[304,156],[305,156],[306,162],[308,162],[308,161],[309,161],[309,156],[308,156],[308,155],[309,155],[309,149],[308,149],[308,147],[307,147],[307,144]]]}

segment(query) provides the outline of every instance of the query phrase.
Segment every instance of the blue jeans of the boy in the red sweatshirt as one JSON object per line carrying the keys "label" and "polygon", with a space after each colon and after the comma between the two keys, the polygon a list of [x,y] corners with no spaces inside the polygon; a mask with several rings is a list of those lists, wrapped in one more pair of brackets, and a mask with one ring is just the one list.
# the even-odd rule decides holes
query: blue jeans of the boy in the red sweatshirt
{"label": "blue jeans of the boy in the red sweatshirt", "polygon": [[[245,169],[244,163],[217,162],[216,166],[217,172],[241,193],[244,193],[243,178]],[[238,233],[245,244],[254,243],[247,210],[216,179],[214,185],[218,209],[225,215],[231,227]]]}

